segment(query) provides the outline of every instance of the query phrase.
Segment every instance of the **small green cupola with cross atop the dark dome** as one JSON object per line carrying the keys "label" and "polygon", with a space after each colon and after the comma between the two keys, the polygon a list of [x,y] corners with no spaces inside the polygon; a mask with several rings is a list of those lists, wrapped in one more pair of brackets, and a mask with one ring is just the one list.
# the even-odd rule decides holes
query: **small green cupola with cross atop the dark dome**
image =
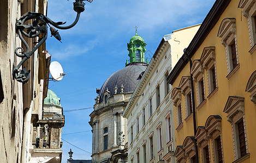
{"label": "small green cupola with cross atop the dark dome", "polygon": [[148,64],[148,60],[145,60],[145,46],[147,44],[144,42],[143,38],[137,34],[137,29],[135,35],[127,43],[130,60],[126,60],[126,66],[133,62],[141,62]]}

